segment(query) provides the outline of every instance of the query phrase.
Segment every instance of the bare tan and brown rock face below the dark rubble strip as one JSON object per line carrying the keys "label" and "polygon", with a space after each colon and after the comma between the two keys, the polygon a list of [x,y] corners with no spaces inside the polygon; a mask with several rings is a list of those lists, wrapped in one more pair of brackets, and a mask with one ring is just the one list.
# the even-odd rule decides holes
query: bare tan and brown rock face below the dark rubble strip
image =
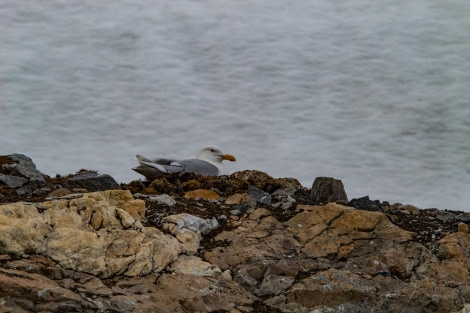
{"label": "bare tan and brown rock face below the dark rubble strip", "polygon": [[128,191],[0,206],[3,305],[249,312],[263,301],[271,312],[457,312],[470,300],[465,227],[428,249],[381,212],[299,204],[281,222],[256,207],[228,219],[212,239],[223,244],[203,248],[216,218],[169,215],[166,234],[141,224],[144,210]]}

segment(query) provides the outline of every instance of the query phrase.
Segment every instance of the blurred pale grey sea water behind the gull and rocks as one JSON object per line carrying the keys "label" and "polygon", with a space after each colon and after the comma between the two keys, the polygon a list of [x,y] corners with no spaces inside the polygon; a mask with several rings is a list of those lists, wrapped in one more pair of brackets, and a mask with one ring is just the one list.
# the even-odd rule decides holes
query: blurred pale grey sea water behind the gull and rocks
{"label": "blurred pale grey sea water behind the gull and rocks", "polygon": [[470,2],[0,0],[0,153],[142,178],[135,154],[341,179],[470,211]]}

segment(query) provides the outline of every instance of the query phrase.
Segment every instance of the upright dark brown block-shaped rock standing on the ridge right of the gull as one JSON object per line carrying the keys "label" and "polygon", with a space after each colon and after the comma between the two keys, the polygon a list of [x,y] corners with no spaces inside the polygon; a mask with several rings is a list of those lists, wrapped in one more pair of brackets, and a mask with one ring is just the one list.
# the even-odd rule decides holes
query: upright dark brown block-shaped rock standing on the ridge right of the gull
{"label": "upright dark brown block-shaped rock standing on the ridge right of the gull", "polygon": [[348,202],[348,197],[346,196],[341,180],[331,177],[315,178],[310,197],[316,203]]}

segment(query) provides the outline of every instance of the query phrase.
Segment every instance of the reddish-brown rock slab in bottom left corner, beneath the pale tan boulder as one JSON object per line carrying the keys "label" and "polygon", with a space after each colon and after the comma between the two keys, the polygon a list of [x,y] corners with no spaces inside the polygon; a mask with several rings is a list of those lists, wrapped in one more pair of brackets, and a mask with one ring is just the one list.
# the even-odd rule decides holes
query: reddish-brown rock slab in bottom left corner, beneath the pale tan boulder
{"label": "reddish-brown rock slab in bottom left corner, beneath the pale tan boulder", "polygon": [[[183,256],[184,258],[184,256]],[[50,270],[60,276],[48,278]],[[194,289],[188,293],[188,286]],[[191,289],[191,287],[190,287]],[[44,257],[0,267],[2,312],[200,312],[250,305],[254,297],[236,283],[191,274],[99,279],[72,272]]]}

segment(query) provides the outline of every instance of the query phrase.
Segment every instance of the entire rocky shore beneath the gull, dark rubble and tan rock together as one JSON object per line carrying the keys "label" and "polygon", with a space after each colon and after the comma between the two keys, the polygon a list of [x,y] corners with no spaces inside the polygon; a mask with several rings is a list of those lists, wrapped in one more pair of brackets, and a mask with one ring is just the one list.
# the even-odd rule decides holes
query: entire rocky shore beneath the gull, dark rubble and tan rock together
{"label": "entire rocky shore beneath the gull, dark rubble and tan rock together", "polygon": [[0,156],[0,312],[466,313],[469,225],[329,178],[119,185]]}

